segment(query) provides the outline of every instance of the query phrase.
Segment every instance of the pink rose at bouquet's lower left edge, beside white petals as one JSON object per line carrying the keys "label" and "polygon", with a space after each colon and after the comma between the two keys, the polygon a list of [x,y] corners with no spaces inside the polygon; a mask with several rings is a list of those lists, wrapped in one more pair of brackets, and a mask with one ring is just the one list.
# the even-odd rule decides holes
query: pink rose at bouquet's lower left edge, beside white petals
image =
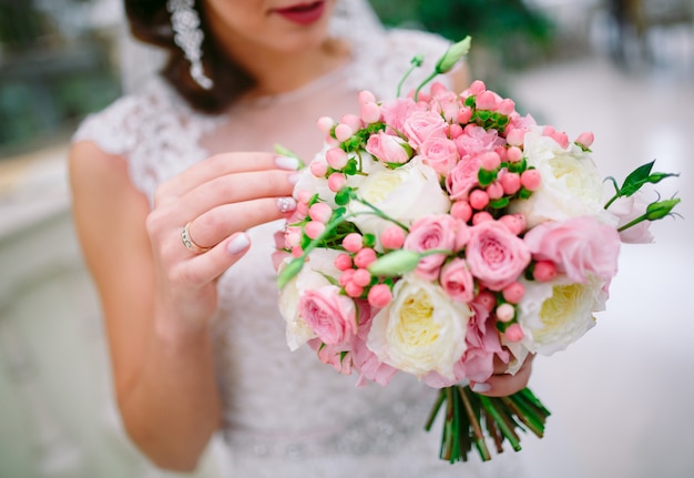
{"label": "pink rose at bouquet's lower left edge, beside white petals", "polygon": [[326,345],[349,344],[357,333],[354,301],[326,285],[306,291],[298,303],[299,316]]}

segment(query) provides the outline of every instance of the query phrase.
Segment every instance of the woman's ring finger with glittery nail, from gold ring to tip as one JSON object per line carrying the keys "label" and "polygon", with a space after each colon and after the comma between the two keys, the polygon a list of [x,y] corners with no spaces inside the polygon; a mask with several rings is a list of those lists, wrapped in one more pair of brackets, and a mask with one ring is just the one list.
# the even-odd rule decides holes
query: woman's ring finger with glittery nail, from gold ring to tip
{"label": "woman's ring finger with glittery nail, from gold ring to tip", "polygon": [[188,233],[198,246],[211,247],[237,231],[286,217],[295,209],[296,201],[290,196],[223,204],[191,221]]}

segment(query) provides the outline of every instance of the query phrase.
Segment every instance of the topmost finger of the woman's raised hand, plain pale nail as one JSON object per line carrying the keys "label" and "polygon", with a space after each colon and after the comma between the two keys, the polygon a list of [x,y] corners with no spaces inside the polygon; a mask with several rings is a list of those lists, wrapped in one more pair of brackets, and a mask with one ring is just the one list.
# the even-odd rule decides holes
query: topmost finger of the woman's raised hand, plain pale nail
{"label": "topmost finger of the woman's raised hand, plain pale nail", "polygon": [[207,157],[160,185],[155,204],[175,200],[215,177],[253,171],[286,170],[298,167],[298,160],[264,152],[234,152]]}

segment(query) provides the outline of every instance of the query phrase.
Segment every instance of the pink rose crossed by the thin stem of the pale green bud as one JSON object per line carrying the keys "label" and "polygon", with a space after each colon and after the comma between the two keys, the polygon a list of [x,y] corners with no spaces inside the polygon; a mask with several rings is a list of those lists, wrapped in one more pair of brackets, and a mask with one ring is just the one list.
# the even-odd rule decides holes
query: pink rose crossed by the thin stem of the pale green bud
{"label": "pink rose crossed by the thin stem of the pale green bud", "polygon": [[[453,251],[456,247],[458,221],[448,214],[420,217],[410,227],[404,247],[410,251],[425,252],[430,250]],[[417,273],[430,281],[439,275],[439,268],[446,254],[431,254],[422,257],[417,265]]]}

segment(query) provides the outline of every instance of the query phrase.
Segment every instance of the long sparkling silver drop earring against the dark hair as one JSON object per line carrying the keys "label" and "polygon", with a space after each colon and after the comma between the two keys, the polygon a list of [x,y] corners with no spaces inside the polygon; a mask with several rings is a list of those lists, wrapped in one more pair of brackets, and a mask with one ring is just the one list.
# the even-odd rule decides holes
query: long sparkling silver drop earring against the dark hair
{"label": "long sparkling silver drop earring against the dark hair", "polygon": [[183,50],[185,59],[191,62],[191,78],[201,88],[210,90],[212,80],[203,70],[203,39],[200,28],[200,16],[195,10],[195,0],[169,0],[166,10],[171,13],[171,26],[174,31],[174,42]]}

